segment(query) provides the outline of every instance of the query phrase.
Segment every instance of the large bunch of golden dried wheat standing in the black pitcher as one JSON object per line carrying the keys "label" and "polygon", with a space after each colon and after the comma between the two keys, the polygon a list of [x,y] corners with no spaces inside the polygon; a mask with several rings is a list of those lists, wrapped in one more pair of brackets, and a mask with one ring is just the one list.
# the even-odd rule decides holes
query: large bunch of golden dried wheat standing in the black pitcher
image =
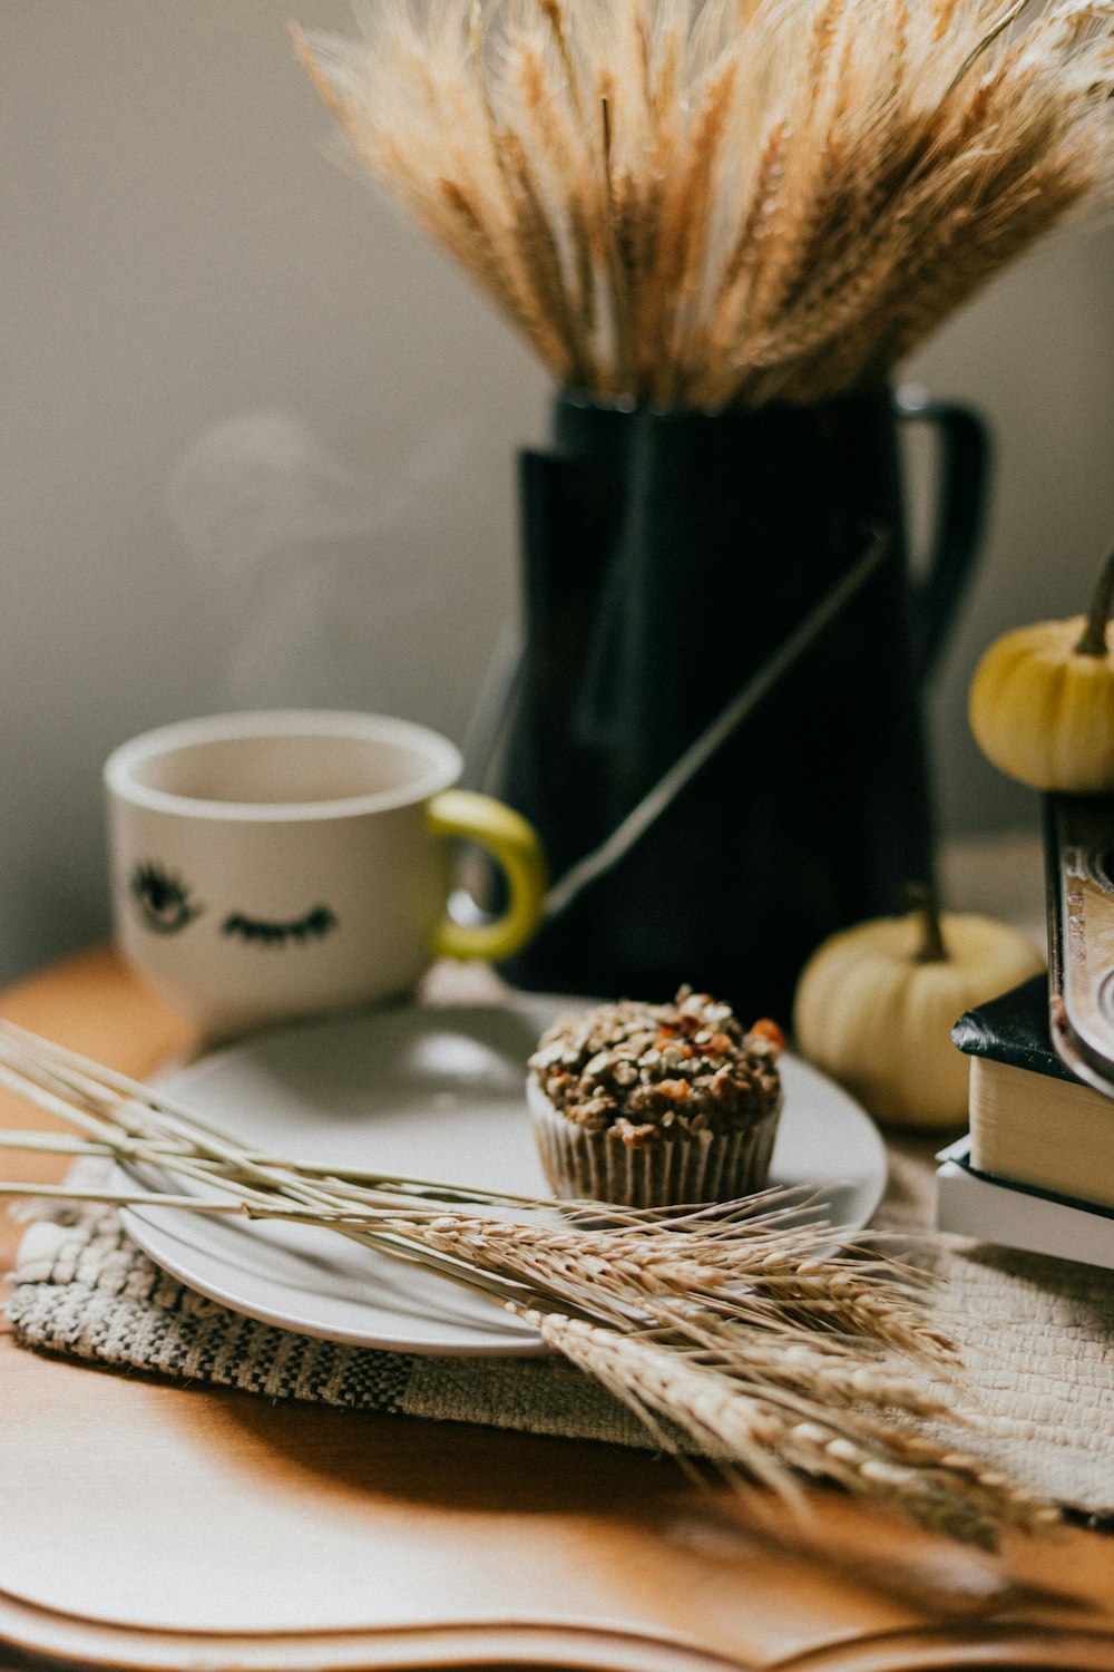
{"label": "large bunch of golden dried wheat standing in the black pitcher", "polygon": [[566,385],[868,388],[1111,182],[1114,5],[379,0],[294,30],[362,167]]}

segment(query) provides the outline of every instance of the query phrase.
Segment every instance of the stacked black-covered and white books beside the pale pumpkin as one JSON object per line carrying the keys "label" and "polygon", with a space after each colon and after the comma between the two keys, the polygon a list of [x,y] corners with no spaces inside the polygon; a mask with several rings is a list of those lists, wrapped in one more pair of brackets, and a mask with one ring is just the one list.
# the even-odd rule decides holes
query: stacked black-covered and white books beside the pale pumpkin
{"label": "stacked black-covered and white books beside the pale pumpkin", "polygon": [[952,1038],[970,1134],[939,1157],[940,1231],[1114,1269],[1114,1100],[1057,1057],[1047,978],[969,1010]]}

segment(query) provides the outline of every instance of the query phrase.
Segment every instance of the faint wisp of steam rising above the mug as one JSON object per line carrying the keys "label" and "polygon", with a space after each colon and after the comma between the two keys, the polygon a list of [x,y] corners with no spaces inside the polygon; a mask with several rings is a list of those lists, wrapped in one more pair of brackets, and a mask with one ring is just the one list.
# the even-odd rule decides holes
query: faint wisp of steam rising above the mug
{"label": "faint wisp of steam rising above the mug", "polygon": [[364,477],[279,408],[194,441],[167,512],[220,600],[230,701],[397,707],[391,659],[397,670],[446,607],[446,500],[469,480],[469,440],[468,423],[444,420],[406,458],[369,456]]}

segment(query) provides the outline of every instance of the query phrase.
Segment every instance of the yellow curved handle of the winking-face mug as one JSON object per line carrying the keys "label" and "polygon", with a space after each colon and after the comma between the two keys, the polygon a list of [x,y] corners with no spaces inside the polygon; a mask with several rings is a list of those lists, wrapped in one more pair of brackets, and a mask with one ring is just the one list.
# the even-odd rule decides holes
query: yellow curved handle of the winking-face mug
{"label": "yellow curved handle of the winking-face mug", "polygon": [[506,873],[511,901],[494,923],[463,925],[443,918],[433,936],[438,958],[509,958],[538,928],[546,893],[546,861],[533,824],[521,813],[473,789],[444,789],[426,809],[428,826],[444,839],[486,848]]}

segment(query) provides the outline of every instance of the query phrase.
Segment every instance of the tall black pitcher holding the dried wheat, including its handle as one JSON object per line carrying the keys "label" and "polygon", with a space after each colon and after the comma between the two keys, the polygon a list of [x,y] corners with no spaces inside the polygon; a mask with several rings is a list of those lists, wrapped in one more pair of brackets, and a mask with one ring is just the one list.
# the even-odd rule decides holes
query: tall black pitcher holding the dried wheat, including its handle
{"label": "tall black pitcher holding the dried wheat, including its handle", "polygon": [[[940,435],[910,580],[902,418]],[[506,973],[788,1020],[830,931],[932,873],[925,675],[975,552],[987,446],[954,406],[671,413],[556,401],[521,458],[526,649],[499,793],[554,878],[595,849],[882,532],[885,558],[631,851]]]}

